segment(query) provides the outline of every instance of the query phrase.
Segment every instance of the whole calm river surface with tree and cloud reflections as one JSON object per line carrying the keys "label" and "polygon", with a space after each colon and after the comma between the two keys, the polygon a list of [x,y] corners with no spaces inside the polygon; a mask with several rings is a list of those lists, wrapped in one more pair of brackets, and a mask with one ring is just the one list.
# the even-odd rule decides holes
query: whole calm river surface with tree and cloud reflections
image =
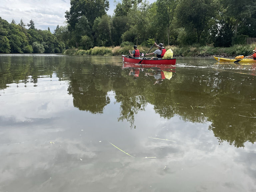
{"label": "whole calm river surface with tree and cloud reflections", "polygon": [[177,63],[0,55],[0,191],[255,192],[256,66]]}

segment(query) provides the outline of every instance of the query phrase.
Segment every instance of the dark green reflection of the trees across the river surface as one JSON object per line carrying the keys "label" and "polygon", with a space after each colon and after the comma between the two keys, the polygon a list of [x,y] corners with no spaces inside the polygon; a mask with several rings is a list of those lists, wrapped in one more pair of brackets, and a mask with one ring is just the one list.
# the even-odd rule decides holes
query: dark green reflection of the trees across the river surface
{"label": "dark green reflection of the trees across the river surface", "polygon": [[[145,110],[147,104],[161,117],[170,119],[179,116],[184,121],[193,123],[211,122],[209,130],[213,131],[219,142],[227,141],[236,147],[243,147],[246,141],[256,141],[256,122],[254,104],[256,90],[248,76],[248,81],[234,81],[235,74],[222,72],[194,73],[178,70],[170,80],[153,85],[153,77],[140,72],[134,80],[129,76],[129,69],[122,70],[114,65],[85,65],[81,61],[35,62],[33,58],[16,62],[12,59],[0,64],[1,89],[8,84],[33,83],[42,75],[53,72],[60,81],[69,80],[68,93],[73,96],[74,106],[91,113],[102,113],[110,103],[108,92],[115,93],[116,102],[120,103],[118,121],[127,120],[135,126],[135,116]],[[33,77],[33,78],[31,78]],[[151,79],[150,79],[151,78]],[[240,74],[239,78],[243,78]],[[251,78],[251,77],[250,77]],[[242,116],[239,116],[242,115]],[[246,116],[246,117],[243,117]],[[247,117],[248,116],[248,117]]]}

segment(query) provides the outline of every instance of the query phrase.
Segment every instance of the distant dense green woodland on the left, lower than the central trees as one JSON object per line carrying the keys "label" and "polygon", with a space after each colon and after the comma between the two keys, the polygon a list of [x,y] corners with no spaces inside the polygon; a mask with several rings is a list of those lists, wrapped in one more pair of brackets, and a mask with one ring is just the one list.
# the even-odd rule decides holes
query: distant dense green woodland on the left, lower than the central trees
{"label": "distant dense green woodland on the left, lower than the central trees", "polygon": [[48,30],[37,30],[33,20],[8,23],[0,17],[0,53],[62,53],[65,44]]}

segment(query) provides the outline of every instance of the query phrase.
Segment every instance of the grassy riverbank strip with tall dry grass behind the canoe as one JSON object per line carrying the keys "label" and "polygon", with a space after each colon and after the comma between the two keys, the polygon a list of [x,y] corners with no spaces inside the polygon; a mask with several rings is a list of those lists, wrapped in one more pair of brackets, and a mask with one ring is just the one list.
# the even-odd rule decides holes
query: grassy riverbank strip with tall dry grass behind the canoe
{"label": "grassy riverbank strip with tall dry grass behind the canoe", "polygon": [[[218,55],[223,57],[234,57],[238,55],[250,55],[252,50],[256,47],[256,44],[253,45],[234,45],[232,47],[213,47],[213,46],[202,46],[202,47],[177,47],[177,46],[166,46],[166,49],[172,49],[174,56],[212,56]],[[150,47],[138,46],[138,49],[141,53],[147,53]],[[153,47],[150,52],[155,51],[157,48]],[[124,47],[94,47],[89,50],[79,50],[77,48],[67,49],[64,54],[66,55],[108,55],[108,56],[117,56],[117,55],[128,55],[129,50],[133,50],[132,46]]]}

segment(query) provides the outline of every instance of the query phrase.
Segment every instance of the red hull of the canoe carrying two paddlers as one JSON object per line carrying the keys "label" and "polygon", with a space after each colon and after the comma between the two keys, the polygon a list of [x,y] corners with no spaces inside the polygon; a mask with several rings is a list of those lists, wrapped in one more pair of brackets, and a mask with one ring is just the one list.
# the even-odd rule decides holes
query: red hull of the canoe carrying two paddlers
{"label": "red hull of the canoe carrying two paddlers", "polygon": [[[126,63],[139,63],[142,59],[129,58],[127,55],[122,55],[123,62]],[[146,65],[175,65],[176,58],[173,59],[161,59],[161,60],[150,60],[150,58],[144,58],[141,64]]]}

